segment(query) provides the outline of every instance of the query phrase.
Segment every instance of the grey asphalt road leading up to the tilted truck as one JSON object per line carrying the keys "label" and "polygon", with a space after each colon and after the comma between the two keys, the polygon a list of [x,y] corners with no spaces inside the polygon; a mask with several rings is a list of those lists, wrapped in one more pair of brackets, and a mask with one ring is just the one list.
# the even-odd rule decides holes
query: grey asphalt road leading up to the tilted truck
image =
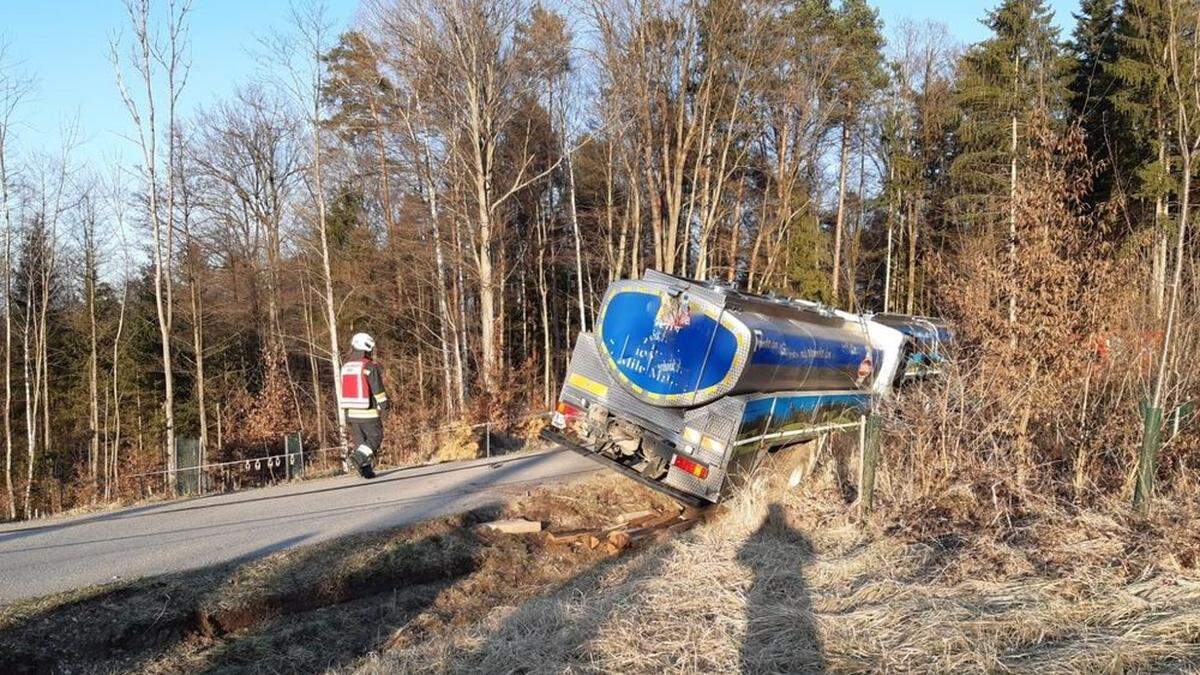
{"label": "grey asphalt road leading up to the tilted truck", "polygon": [[596,468],[553,449],[0,525],[0,604],[418,522]]}

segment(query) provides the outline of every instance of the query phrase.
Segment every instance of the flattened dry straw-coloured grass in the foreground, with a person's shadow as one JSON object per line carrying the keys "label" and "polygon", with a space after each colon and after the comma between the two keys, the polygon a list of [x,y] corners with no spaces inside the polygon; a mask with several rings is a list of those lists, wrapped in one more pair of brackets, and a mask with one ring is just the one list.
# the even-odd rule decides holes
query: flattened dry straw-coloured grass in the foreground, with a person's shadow
{"label": "flattened dry straw-coloured grass in the foreground, with a person's shadow", "polygon": [[1200,668],[1200,574],[1154,526],[1087,513],[1025,538],[916,538],[886,515],[854,522],[830,478],[800,492],[760,479],[708,525],[358,669]]}

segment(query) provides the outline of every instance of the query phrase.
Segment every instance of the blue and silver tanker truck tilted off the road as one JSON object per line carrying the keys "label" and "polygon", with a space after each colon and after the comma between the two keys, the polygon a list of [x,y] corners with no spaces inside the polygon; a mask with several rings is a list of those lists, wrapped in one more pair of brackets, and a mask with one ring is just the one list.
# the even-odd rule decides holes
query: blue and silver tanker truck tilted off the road
{"label": "blue and silver tanker truck tilted off the road", "polygon": [[679,501],[720,501],[764,453],[936,375],[944,323],[854,315],[647,270],[605,293],[544,436]]}

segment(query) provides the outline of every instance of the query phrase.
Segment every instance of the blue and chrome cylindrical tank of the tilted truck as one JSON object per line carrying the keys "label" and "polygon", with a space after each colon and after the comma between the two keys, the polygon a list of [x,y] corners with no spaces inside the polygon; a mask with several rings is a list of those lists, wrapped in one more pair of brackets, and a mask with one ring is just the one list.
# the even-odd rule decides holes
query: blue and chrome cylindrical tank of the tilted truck
{"label": "blue and chrome cylindrical tank of the tilted truck", "polygon": [[858,315],[653,270],[608,287],[595,331],[613,380],[671,407],[743,393],[886,387],[904,340]]}

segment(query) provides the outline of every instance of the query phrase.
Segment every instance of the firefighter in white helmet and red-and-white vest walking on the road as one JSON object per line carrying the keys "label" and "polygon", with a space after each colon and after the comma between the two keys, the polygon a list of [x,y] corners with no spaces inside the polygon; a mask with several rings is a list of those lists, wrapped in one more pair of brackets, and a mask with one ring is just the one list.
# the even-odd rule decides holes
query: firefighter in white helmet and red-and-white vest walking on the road
{"label": "firefighter in white helmet and red-and-white vest walking on the road", "polygon": [[338,384],[338,402],[346,411],[354,448],[347,455],[347,464],[353,464],[364,478],[374,478],[374,455],[383,444],[383,423],[389,408],[383,369],[371,358],[373,351],[374,339],[366,333],[350,338],[350,353],[342,364]]}

